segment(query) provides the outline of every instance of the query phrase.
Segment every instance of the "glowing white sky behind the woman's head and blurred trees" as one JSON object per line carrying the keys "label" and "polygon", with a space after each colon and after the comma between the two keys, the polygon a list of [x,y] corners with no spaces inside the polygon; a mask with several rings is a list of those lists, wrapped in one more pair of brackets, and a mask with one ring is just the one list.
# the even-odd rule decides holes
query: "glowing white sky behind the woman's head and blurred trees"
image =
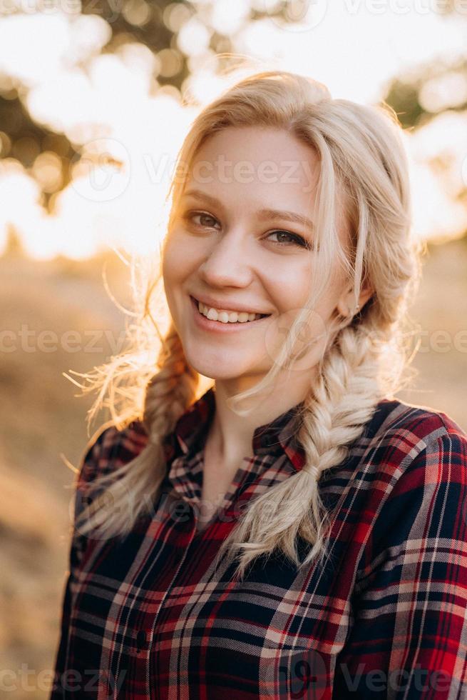
{"label": "glowing white sky behind the woman's head and blurred trees", "polygon": [[[207,11],[205,3],[196,4],[200,16]],[[271,0],[254,4],[272,7]],[[463,56],[467,2],[457,3],[458,11],[449,17],[436,14],[435,4],[291,2],[296,24],[282,27],[277,19],[250,24],[237,37],[236,50],[257,59],[258,69],[272,66],[312,76],[327,84],[334,97],[376,101],[392,76],[431,59]],[[246,0],[217,0],[212,23],[232,31],[241,26],[249,5]],[[307,9],[304,15],[302,8]],[[109,31],[99,16],[58,10],[1,19],[0,72],[19,77],[29,87],[27,104],[34,118],[63,131],[85,157],[79,168],[73,166],[73,181],[56,198],[53,216],[39,204],[35,179],[12,159],[0,160],[0,249],[9,224],[39,258],[58,253],[82,258],[108,246],[140,252],[157,248],[171,166],[195,111],[182,109],[173,94],[149,96],[155,58],[147,47],[101,55]],[[212,74],[208,40],[199,17],[185,25],[179,38],[192,56],[190,89],[202,103],[222,88]],[[87,72],[76,67],[84,59]],[[442,103],[443,89],[462,94],[467,86],[454,75],[449,86],[433,85],[426,99]],[[467,227],[467,213],[453,199],[467,184],[466,121],[462,114],[442,114],[406,136],[414,226],[420,236],[458,236]],[[440,154],[451,161],[447,179],[428,166]],[[118,169],[113,159],[123,166]],[[53,154],[43,154],[34,173],[42,181],[56,176]]]}

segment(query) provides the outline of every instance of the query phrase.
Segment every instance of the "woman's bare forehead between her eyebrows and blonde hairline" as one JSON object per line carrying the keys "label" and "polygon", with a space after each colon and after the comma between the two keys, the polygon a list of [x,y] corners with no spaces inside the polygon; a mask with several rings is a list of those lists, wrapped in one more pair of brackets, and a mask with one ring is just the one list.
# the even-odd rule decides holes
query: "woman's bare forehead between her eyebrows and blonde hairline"
{"label": "woman's bare forehead between her eyebrows and blonde hairline", "polygon": [[[270,207],[315,220],[319,170],[314,147],[285,129],[230,126],[209,136],[198,149],[184,190],[205,191],[241,216],[255,216],[257,209]],[[334,206],[342,243],[347,244],[343,203],[338,189]]]}

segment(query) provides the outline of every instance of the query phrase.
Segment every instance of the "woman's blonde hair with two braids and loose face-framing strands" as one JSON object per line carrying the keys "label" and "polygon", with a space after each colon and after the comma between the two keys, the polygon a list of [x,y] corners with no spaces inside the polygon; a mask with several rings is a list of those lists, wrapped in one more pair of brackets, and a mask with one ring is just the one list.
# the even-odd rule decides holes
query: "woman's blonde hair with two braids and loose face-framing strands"
{"label": "woman's blonde hair with two braids and loose face-framing strands", "polygon": [[[286,129],[317,154],[316,229],[322,264],[320,274],[311,281],[308,303],[294,319],[271,370],[257,386],[232,397],[231,405],[272,386],[287,366],[297,329],[310,319],[326,289],[333,261],[342,261],[349,274],[355,309],[364,281],[369,281],[373,294],[358,313],[337,319],[338,330],[319,359],[317,377],[310,382],[297,424],[297,439],[306,454],[303,469],[253,499],[222,543],[217,561],[221,556],[225,561],[237,556],[235,574],[240,578],[250,561],[274,550],[297,566],[327,556],[329,514],[319,496],[319,479],[346,458],[378,401],[394,396],[403,386],[403,374],[411,361],[405,332],[407,309],[421,276],[421,244],[411,236],[401,127],[389,106],[332,99],[324,85],[305,76],[260,71],[243,77],[200,111],[185,136],[178,163],[188,166],[188,174],[206,139],[242,126]],[[169,231],[185,182],[185,178],[174,178],[170,186]],[[342,249],[336,232],[340,190],[351,225],[350,251]],[[96,477],[93,486],[104,487],[103,496],[111,507],[104,509],[100,497],[84,509],[76,525],[82,534],[96,527],[99,536],[110,537],[124,535],[133,527],[135,519],[154,502],[165,476],[163,440],[197,398],[200,376],[188,365],[177,331],[171,324],[161,336],[150,312],[150,297],[160,277],[159,269],[140,295],[133,349],[98,368],[94,377],[86,375],[91,390],[101,388],[93,410],[110,389],[113,422],[120,429],[133,419],[142,420],[148,443],[135,459]],[[143,341],[140,331],[149,326],[156,329],[159,339],[153,334],[148,341],[146,332]],[[160,352],[154,361],[157,343]],[[118,401],[124,406],[120,412]],[[297,536],[309,544],[301,563]]]}

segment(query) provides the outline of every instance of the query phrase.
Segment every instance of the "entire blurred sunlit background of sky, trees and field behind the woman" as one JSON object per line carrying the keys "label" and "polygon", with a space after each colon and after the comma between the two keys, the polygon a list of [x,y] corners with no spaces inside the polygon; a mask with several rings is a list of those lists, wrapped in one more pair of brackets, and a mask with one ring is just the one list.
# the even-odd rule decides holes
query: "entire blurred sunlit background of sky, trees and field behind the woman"
{"label": "entire blurred sunlit background of sky, trees and field behind the woman", "polygon": [[120,253],[157,250],[170,166],[190,119],[225,84],[220,71],[235,64],[227,52],[312,76],[335,97],[384,99],[399,114],[427,254],[411,312],[419,374],[398,396],[467,430],[467,12],[436,0],[403,6],[0,6],[2,697],[48,695],[71,466],[110,417],[101,411],[88,434],[94,397],[78,398],[63,373],[121,349],[125,317],[104,266],[127,305]]}

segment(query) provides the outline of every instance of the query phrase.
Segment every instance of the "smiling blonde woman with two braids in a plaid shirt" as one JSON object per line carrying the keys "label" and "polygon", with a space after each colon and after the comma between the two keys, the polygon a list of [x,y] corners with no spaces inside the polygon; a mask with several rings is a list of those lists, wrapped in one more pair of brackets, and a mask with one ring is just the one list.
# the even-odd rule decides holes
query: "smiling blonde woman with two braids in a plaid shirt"
{"label": "smiling blonde woman with two braids in a plaid shirt", "polygon": [[179,164],[170,327],[83,458],[51,698],[460,698],[467,436],[394,398],[420,271],[394,114],[265,71]]}

